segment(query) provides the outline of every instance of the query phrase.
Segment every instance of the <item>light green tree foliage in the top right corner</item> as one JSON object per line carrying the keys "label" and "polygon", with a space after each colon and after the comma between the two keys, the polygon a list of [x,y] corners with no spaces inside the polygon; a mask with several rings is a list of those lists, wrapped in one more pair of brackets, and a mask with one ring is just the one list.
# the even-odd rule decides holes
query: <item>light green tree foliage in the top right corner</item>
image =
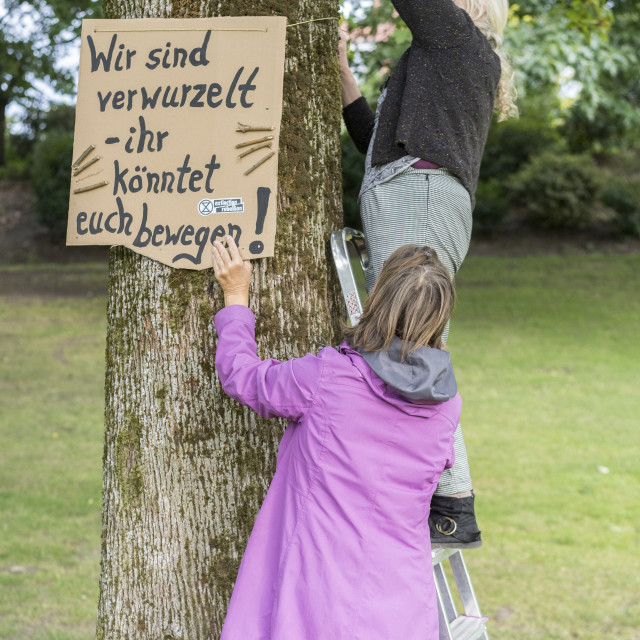
{"label": "light green tree foliage in the top right corner", "polygon": [[[578,137],[586,127],[596,146],[620,142],[640,124],[640,20],[633,5],[627,0],[512,5],[506,46],[521,94],[545,85],[562,88],[567,99],[552,115],[572,122],[567,133],[574,129]],[[579,147],[588,146],[583,136]]]}

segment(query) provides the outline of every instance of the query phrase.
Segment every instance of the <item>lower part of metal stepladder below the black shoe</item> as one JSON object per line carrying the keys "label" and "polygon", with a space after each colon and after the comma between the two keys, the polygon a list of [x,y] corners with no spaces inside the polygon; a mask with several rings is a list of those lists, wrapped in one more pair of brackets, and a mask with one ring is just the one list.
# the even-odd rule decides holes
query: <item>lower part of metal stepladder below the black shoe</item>
{"label": "lower part of metal stepladder below the black shoe", "polygon": [[[434,549],[431,552],[433,577],[438,594],[440,640],[489,640],[488,618],[482,616],[471,578],[460,549]],[[449,561],[464,613],[459,614],[445,574],[443,562]]]}

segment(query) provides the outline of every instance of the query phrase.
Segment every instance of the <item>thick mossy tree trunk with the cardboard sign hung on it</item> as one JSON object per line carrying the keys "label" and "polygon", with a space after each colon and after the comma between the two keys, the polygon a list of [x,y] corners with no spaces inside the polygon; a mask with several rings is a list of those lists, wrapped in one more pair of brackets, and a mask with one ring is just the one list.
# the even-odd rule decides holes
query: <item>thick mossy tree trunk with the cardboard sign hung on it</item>
{"label": "thick mossy tree trunk with the cardboard sign hung on it", "polygon": [[[337,16],[333,0],[105,2],[110,18]],[[328,269],[341,226],[335,21],[287,29],[274,258],[254,262],[262,357],[335,343],[342,307]],[[218,638],[283,424],[227,398],[215,370],[210,271],[111,250],[102,572],[97,638]],[[247,639],[249,640],[249,639]]]}

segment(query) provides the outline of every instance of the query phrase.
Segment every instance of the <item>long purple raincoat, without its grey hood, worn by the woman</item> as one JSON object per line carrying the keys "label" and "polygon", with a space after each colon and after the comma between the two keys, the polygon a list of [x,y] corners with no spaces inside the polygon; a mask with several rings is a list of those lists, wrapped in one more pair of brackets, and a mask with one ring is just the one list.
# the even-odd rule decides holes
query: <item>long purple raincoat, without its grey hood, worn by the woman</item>
{"label": "long purple raincoat, without its grey hood, worn by the woman", "polygon": [[427,517],[460,397],[412,402],[346,345],[261,361],[247,307],[215,326],[225,391],[290,421],[221,640],[437,640]]}

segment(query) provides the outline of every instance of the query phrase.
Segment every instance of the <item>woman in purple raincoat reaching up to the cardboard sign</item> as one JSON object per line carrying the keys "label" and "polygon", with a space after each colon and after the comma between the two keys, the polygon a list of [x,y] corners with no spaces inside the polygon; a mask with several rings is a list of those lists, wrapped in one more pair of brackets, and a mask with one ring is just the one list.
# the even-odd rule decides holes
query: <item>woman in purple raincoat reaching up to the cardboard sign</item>
{"label": "woman in purple raincoat reaching up to the cardboard sign", "polygon": [[290,423],[221,640],[436,640],[429,504],[461,406],[441,341],[446,269],[426,247],[401,247],[339,348],[262,361],[251,264],[227,241],[214,247],[218,376]]}

